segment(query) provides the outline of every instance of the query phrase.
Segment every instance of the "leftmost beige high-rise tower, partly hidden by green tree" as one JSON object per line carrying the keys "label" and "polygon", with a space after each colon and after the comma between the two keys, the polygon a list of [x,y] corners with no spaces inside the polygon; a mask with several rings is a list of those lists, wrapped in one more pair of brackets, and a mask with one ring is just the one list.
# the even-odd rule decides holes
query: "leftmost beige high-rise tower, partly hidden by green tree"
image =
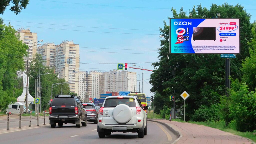
{"label": "leftmost beige high-rise tower, partly hidden by green tree", "polygon": [[[34,43],[34,42],[37,42],[37,33],[32,33],[30,32],[29,29],[19,28],[17,29],[17,32],[16,32],[16,35],[18,34],[20,35],[19,40],[22,40],[24,44],[29,46],[28,62],[30,62],[33,55],[36,54],[37,52],[37,43]],[[27,62],[27,57],[24,57],[24,61]]]}

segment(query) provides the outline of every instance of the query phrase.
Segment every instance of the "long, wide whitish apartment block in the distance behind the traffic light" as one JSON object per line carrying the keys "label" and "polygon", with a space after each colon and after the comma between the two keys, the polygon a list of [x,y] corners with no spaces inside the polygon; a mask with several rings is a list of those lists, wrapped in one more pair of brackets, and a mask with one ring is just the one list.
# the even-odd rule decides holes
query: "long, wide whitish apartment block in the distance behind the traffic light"
{"label": "long, wide whitish apartment block in the distance behind the traffic light", "polygon": [[[86,78],[86,75],[88,77]],[[79,72],[79,79],[84,79],[85,83],[79,83],[79,96],[86,101],[88,98],[100,98],[100,94],[108,92],[131,91],[137,90],[137,75],[124,70],[111,70],[108,72],[89,71]],[[86,88],[86,84],[88,85]],[[86,90],[87,95],[86,95]]]}

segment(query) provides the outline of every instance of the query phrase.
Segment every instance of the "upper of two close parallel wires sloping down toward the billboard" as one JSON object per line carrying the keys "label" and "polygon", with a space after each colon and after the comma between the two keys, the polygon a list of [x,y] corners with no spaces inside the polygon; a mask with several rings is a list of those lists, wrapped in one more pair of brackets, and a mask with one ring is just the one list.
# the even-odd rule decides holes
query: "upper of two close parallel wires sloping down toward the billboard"
{"label": "upper of two close parallel wires sloping down toward the billboard", "polygon": [[[6,19],[5,19],[6,20]],[[131,29],[131,28],[109,28],[109,27],[91,27],[91,26],[74,26],[74,25],[60,25],[60,24],[47,24],[47,23],[34,23],[34,22],[23,22],[16,20],[6,20],[10,22],[22,22],[22,23],[32,23],[32,24],[44,24],[44,25],[57,25],[57,26],[73,26],[73,27],[87,27],[87,28],[105,28],[105,29],[124,29],[124,30],[153,30],[153,29]],[[159,31],[159,30],[153,30]]]}

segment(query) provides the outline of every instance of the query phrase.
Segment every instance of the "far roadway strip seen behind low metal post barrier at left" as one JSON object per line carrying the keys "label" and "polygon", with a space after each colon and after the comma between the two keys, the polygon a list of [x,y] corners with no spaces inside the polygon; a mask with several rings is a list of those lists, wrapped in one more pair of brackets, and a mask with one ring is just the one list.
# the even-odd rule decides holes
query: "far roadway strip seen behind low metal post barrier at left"
{"label": "far roadway strip seen behind low metal post barrier at left", "polygon": [[[39,117],[39,124],[44,124],[44,117]],[[3,119],[3,118],[2,118]],[[21,126],[29,126],[29,117],[22,117],[22,122]],[[7,130],[7,120],[0,120],[0,130],[6,129]],[[45,118],[45,123],[49,123],[49,118],[46,116]],[[37,124],[37,117],[33,117],[31,119],[31,125],[36,125]],[[19,118],[17,117],[10,117],[10,123],[9,123],[9,128],[18,128],[19,127]]]}

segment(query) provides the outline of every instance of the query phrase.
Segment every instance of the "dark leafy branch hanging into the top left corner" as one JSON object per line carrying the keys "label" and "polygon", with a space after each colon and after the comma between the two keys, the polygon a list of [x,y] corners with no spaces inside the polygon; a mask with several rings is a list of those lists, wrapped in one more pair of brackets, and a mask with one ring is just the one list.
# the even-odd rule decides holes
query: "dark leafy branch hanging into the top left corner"
{"label": "dark leafy branch hanging into the top left corner", "polygon": [[10,6],[10,3],[13,6],[10,7],[10,10],[14,14],[18,15],[23,8],[26,8],[29,0],[1,0],[0,1],[0,14],[4,14],[6,7]]}

